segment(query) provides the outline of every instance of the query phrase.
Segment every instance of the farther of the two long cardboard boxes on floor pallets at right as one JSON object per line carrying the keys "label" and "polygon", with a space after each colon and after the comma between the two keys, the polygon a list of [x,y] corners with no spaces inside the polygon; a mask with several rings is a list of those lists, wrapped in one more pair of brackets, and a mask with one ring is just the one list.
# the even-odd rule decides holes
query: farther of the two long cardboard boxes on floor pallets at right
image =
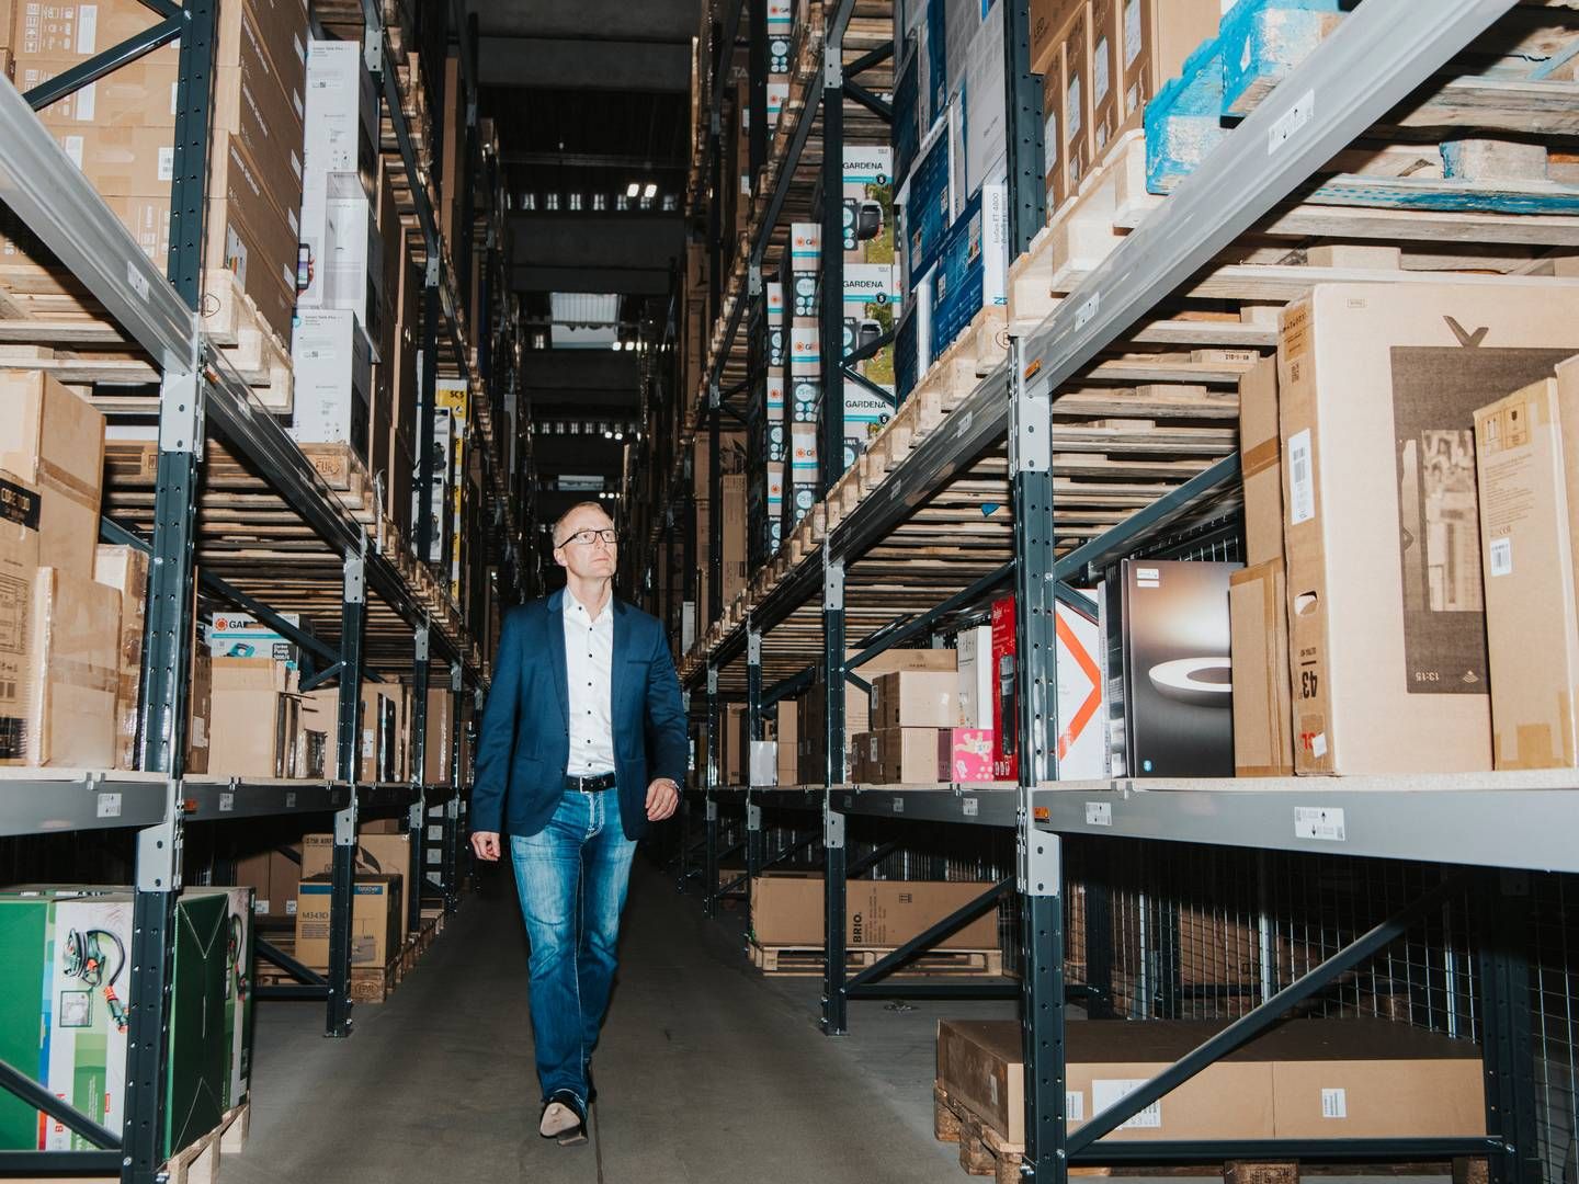
{"label": "farther of the two long cardboard boxes on floor pallets at right", "polygon": [[[845,942],[892,949],[965,908],[990,884],[898,879],[853,879],[845,908]],[[821,873],[756,876],[752,881],[752,928],[759,946],[823,944]],[[938,949],[998,949],[998,914],[988,909],[938,942]]]}

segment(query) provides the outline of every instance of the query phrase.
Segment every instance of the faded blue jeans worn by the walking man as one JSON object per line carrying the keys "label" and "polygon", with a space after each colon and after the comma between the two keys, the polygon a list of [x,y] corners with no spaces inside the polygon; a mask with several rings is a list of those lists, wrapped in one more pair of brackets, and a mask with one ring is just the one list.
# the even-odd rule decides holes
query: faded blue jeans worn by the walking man
{"label": "faded blue jeans worn by the walking man", "polygon": [[619,791],[565,791],[542,832],[510,837],[521,916],[532,941],[532,1039],[543,1100],[587,1099],[587,1064],[614,985],[619,914],[636,843]]}

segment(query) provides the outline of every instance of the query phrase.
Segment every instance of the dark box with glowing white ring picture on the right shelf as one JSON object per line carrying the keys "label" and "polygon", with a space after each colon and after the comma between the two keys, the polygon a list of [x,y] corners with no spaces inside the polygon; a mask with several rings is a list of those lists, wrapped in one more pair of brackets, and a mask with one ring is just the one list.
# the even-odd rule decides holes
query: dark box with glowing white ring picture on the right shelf
{"label": "dark box with glowing white ring picture on the right shelf", "polygon": [[1228,579],[1240,567],[1126,559],[1107,581],[1115,775],[1232,775]]}

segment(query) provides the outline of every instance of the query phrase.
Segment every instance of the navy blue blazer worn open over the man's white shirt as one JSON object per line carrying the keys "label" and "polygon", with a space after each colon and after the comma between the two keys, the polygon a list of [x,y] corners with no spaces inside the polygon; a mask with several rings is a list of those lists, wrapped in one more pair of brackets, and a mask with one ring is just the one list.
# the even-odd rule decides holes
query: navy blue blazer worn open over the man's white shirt
{"label": "navy blue blazer worn open over the man's white shirt", "polygon": [[[477,740],[472,830],[535,835],[565,792],[570,691],[565,687],[565,592],[505,613],[493,687]],[[681,684],[663,625],[617,598],[614,613],[614,778],[627,838],[647,830],[647,785],[685,783],[690,742]],[[649,775],[651,769],[651,775]]]}

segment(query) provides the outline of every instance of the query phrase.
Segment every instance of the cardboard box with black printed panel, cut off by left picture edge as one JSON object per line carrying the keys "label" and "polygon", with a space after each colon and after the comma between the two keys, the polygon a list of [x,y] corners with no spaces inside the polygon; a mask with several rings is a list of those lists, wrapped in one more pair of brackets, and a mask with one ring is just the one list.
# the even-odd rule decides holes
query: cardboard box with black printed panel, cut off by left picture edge
{"label": "cardboard box with black printed panel, cut off by left picture edge", "polygon": [[38,491],[0,472],[0,766],[27,764],[35,731],[38,521]]}

